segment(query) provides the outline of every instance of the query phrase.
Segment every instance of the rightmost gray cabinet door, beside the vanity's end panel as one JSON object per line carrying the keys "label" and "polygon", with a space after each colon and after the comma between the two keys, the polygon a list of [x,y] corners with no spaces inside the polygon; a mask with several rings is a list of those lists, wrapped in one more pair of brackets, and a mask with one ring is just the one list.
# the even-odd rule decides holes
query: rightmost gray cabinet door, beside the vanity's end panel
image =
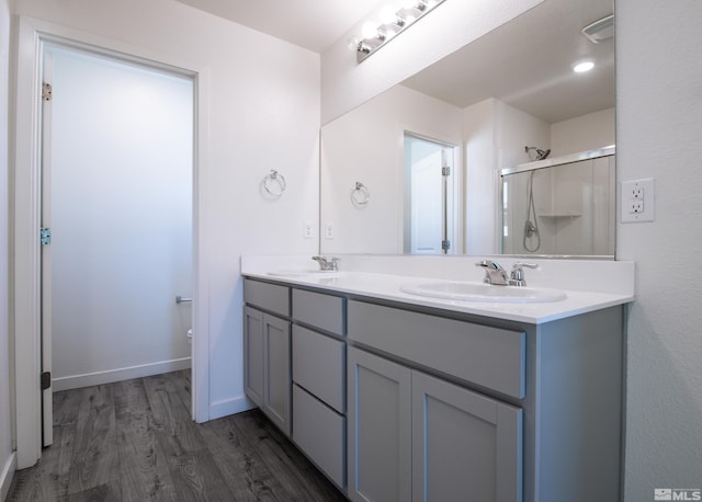
{"label": "rightmost gray cabinet door, beside the vanity's end panel", "polygon": [[522,500],[522,412],[412,372],[412,501]]}

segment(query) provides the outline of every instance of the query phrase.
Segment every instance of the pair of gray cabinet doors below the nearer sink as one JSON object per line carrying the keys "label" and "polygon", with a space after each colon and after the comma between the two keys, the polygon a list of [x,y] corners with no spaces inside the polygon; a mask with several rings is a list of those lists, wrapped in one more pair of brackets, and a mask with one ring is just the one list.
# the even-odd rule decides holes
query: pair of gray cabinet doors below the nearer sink
{"label": "pair of gray cabinet doors below the nearer sink", "polygon": [[349,392],[351,500],[520,500],[519,408],[355,347]]}

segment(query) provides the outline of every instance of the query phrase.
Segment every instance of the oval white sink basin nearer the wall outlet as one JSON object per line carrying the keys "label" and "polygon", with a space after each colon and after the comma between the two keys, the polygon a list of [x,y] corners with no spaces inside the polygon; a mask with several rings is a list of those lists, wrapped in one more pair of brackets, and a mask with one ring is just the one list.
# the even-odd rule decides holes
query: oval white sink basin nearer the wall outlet
{"label": "oval white sink basin nearer the wall outlet", "polygon": [[404,284],[400,290],[410,295],[466,301],[492,301],[503,304],[535,304],[561,301],[567,295],[558,289],[535,287],[494,286],[485,283],[437,281],[433,283]]}

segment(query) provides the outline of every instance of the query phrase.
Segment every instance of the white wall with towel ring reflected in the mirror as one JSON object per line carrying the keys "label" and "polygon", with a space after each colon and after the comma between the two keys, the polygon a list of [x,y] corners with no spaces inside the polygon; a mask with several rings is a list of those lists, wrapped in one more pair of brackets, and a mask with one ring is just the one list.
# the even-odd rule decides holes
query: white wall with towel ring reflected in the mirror
{"label": "white wall with towel ring reflected in the mirror", "polygon": [[[321,133],[321,228],[333,226],[333,239],[321,236],[321,252],[401,253],[404,214],[404,132],[461,144],[461,110],[403,85],[396,85]],[[351,202],[355,182],[371,201]]]}

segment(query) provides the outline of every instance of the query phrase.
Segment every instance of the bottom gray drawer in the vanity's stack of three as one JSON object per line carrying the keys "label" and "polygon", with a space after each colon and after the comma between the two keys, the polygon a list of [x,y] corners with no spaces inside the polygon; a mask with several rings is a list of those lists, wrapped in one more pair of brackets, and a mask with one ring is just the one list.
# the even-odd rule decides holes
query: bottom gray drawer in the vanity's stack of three
{"label": "bottom gray drawer in the vanity's stack of three", "polygon": [[346,487],[346,418],[293,384],[293,441],[339,486]]}

